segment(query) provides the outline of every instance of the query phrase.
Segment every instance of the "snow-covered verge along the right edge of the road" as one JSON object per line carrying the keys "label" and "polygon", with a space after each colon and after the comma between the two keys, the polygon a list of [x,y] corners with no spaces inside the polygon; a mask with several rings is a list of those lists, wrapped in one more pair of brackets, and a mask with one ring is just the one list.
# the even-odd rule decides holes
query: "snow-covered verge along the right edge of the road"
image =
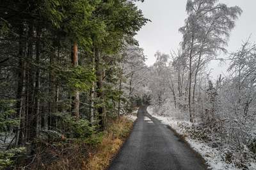
{"label": "snow-covered verge along the right edge of the road", "polygon": [[[217,150],[216,148],[212,148],[207,143],[203,141],[199,141],[196,139],[191,139],[189,137],[189,133],[186,132],[185,127],[191,127],[192,123],[184,120],[177,120],[172,118],[171,116],[159,116],[154,114],[154,107],[151,105],[148,106],[147,112],[151,114],[153,117],[161,120],[163,124],[170,125],[179,135],[182,135],[187,143],[193,148],[196,152],[200,153],[200,155],[205,159],[206,164],[209,166],[209,169],[213,170],[238,170],[234,164],[227,164],[223,158],[221,157],[221,150]],[[251,164],[250,169],[256,169],[255,164]]]}

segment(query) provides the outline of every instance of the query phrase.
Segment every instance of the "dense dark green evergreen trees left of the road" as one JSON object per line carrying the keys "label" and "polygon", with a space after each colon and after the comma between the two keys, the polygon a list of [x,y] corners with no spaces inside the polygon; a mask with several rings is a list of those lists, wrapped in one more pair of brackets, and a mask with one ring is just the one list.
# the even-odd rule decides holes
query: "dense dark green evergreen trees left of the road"
{"label": "dense dark green evergreen trees left of the road", "polygon": [[145,68],[134,35],[148,21],[134,3],[1,1],[1,169],[47,169],[47,148],[98,143],[132,110],[133,68]]}

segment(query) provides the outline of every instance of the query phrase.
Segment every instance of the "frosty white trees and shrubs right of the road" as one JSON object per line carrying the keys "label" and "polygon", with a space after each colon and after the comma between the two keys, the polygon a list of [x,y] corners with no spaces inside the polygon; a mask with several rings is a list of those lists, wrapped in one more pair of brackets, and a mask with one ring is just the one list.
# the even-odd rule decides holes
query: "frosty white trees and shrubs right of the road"
{"label": "frosty white trees and shrubs right of the road", "polygon": [[[190,139],[216,148],[221,161],[234,165],[230,169],[255,169],[256,44],[244,37],[240,49],[227,50],[243,11],[217,0],[189,0],[186,13],[179,49],[156,52],[150,67],[154,112],[179,121]],[[227,65],[226,75],[212,78],[211,61]]]}

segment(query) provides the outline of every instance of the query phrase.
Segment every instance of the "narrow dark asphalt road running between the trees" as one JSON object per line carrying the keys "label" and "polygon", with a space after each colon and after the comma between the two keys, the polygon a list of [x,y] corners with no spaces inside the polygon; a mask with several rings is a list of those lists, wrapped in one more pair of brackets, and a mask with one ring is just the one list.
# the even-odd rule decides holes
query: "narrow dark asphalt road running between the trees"
{"label": "narrow dark asphalt road running between the trees", "polygon": [[196,153],[170,128],[153,118],[147,106],[140,107],[130,137],[109,170],[207,169]]}

